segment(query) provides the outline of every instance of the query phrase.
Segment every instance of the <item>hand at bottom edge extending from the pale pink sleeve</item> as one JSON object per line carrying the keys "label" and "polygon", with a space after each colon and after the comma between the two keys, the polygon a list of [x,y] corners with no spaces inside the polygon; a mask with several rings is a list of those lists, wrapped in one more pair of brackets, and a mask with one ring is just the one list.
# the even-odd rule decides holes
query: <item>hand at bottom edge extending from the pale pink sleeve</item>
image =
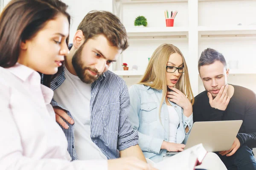
{"label": "hand at bottom edge extending from the pale pink sleeve", "polygon": [[156,170],[150,164],[135,157],[108,160],[108,170]]}

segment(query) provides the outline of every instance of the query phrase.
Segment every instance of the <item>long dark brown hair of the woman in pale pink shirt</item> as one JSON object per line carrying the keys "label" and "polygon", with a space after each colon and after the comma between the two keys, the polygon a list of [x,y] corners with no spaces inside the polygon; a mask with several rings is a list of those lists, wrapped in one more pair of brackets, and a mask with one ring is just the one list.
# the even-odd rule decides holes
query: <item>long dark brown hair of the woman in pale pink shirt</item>
{"label": "long dark brown hair of the woman in pale pink shirt", "polygon": [[[70,23],[66,10],[67,5],[60,0],[11,0],[0,14],[0,67],[14,66],[21,42],[35,37],[58,14],[67,16]],[[51,77],[45,75],[44,84],[49,85]]]}

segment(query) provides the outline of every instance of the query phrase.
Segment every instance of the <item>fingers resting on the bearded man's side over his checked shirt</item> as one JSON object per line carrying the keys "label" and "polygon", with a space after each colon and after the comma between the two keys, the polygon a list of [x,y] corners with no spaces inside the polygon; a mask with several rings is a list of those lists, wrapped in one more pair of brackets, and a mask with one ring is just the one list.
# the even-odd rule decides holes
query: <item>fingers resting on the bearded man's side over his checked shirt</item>
{"label": "fingers resting on the bearded man's side over his checked shirt", "polygon": [[[55,112],[56,121],[57,121],[59,124],[61,124],[62,127],[64,127],[65,129],[68,129],[68,125],[67,125],[66,122],[64,122],[63,119],[67,120],[67,122],[69,122],[71,125],[74,124],[74,120],[71,119],[71,117],[68,116],[67,113],[66,113],[63,109],[61,109],[61,108],[59,108],[59,107],[54,107],[53,110],[54,110],[54,112]],[[61,117],[62,117],[63,119],[61,119]]]}

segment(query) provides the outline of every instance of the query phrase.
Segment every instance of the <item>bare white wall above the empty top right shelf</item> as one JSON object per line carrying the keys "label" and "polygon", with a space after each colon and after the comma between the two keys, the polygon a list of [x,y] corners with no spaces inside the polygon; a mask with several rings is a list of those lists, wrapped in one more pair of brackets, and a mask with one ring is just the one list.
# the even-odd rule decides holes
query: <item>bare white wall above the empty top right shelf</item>
{"label": "bare white wall above the empty top right shelf", "polygon": [[255,0],[199,1],[199,26],[250,25],[256,23]]}

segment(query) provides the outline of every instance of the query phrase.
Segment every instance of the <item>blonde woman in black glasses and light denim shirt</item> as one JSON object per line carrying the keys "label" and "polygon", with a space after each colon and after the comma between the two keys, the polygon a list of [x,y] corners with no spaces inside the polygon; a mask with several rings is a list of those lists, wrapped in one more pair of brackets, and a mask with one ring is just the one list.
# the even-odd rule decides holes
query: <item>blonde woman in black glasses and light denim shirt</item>
{"label": "blonde woman in black glasses and light denim shirt", "polygon": [[129,93],[129,118],[139,131],[145,158],[159,162],[171,155],[167,152],[182,151],[193,125],[194,97],[181,51],[171,44],[160,45]]}

